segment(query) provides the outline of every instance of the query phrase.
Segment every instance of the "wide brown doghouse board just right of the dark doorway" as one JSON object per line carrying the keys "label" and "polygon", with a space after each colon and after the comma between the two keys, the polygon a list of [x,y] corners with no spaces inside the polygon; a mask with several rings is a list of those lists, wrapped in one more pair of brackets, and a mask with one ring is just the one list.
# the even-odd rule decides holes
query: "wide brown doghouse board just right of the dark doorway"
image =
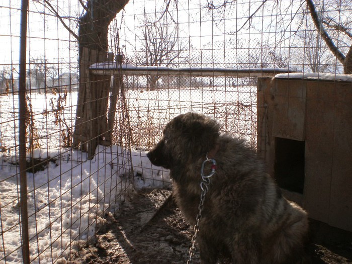
{"label": "wide brown doghouse board just right of the dark doorway", "polygon": [[304,208],[328,223],[333,148],[333,87],[307,83]]}

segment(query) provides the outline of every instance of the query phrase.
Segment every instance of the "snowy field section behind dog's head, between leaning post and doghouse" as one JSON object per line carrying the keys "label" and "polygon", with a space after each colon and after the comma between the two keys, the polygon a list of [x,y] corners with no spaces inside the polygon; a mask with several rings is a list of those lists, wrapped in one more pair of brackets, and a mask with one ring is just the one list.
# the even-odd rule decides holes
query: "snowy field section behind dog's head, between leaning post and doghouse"
{"label": "snowy field section behind dog's head, between leaning post and doghouse", "polygon": [[169,120],[190,111],[216,119],[222,131],[256,146],[256,86],[129,90],[127,98],[132,137],[142,149],[158,141]]}

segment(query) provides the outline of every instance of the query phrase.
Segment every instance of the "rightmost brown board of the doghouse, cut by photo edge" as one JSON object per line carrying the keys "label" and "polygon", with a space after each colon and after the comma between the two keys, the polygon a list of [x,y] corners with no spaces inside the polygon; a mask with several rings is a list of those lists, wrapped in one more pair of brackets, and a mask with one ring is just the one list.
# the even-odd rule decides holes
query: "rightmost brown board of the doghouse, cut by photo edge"
{"label": "rightmost brown board of the doghouse, cut by photo edge", "polygon": [[335,88],[329,225],[352,231],[352,84]]}

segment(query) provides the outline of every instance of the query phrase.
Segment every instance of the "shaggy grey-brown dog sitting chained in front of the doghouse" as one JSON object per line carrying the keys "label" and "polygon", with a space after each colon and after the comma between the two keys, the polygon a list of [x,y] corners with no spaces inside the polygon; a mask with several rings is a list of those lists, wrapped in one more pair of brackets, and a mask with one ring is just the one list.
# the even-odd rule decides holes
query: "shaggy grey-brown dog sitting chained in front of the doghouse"
{"label": "shaggy grey-brown dog sitting chained in front of the doghouse", "polygon": [[[308,231],[307,214],[287,201],[242,140],[220,135],[219,124],[187,113],[171,120],[147,156],[170,169],[178,206],[194,225],[201,197],[201,166],[208,153],[217,162],[205,196],[197,242],[201,263],[219,255],[233,263],[297,263]],[[204,174],[212,162],[205,162]]]}

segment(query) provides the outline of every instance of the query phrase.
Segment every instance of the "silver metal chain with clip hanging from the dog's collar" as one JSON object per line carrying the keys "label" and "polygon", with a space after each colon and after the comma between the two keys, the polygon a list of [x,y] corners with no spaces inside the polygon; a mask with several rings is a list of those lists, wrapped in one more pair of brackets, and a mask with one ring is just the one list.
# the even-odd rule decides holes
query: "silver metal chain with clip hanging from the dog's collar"
{"label": "silver metal chain with clip hanging from the dog's collar", "polygon": [[[206,162],[212,162],[212,165],[211,165],[211,172],[209,175],[204,175],[204,165]],[[208,190],[209,190],[209,184],[210,184],[210,178],[214,175],[215,173],[215,168],[216,168],[216,161],[215,159],[209,159],[208,158],[208,153],[207,153],[207,159],[203,161],[203,164],[202,164],[202,168],[201,168],[201,177],[202,177],[202,182],[201,182],[201,190],[202,190],[202,193],[201,193],[201,201],[199,202],[199,205],[198,205],[198,214],[197,214],[197,217],[196,217],[196,224],[194,225],[193,227],[193,231],[194,231],[194,234],[192,236],[192,240],[191,240],[191,248],[190,248],[190,251],[189,251],[189,258],[187,260],[187,264],[191,264],[192,263],[192,257],[193,257],[193,254],[196,250],[196,238],[197,238],[197,235],[198,235],[198,232],[199,232],[199,221],[201,220],[201,217],[202,217],[202,211],[203,211],[203,207],[204,207],[204,200],[205,200],[205,195],[207,194]]]}

